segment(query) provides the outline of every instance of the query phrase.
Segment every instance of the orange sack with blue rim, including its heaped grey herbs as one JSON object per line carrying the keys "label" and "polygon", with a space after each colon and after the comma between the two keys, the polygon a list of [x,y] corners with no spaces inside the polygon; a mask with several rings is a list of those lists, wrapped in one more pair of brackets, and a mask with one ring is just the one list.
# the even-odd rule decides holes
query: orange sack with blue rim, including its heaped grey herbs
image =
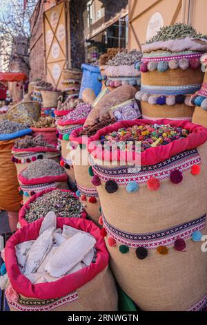
{"label": "orange sack with blue rim, including its heaped grey herbs", "polygon": [[0,122],[0,210],[8,211],[12,231],[17,229],[17,216],[21,207],[21,196],[18,189],[17,171],[11,160],[11,149],[15,139],[30,133],[32,131],[26,125],[8,120]]}

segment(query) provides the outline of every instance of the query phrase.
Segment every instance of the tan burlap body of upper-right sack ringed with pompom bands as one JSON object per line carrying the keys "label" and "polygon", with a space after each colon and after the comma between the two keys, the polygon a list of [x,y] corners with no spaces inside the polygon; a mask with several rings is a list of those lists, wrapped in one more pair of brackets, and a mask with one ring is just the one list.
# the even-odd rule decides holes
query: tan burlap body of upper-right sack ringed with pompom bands
{"label": "tan burlap body of upper-right sack ringed with pompom bands", "polygon": [[[199,55],[196,52],[194,52],[195,55]],[[169,52],[166,52],[164,50],[157,50],[153,53],[144,53],[145,57],[143,58],[144,64],[147,64],[147,60],[152,59],[150,55],[156,55],[157,59],[155,58],[154,61],[160,61],[161,57],[164,57],[166,55],[166,58],[168,58],[168,55],[172,56],[173,53],[170,54]],[[149,55],[149,56],[148,56]],[[188,52],[184,53],[177,53],[177,60],[179,60],[179,57],[186,57],[190,55]],[[193,55],[193,54],[192,54]],[[200,54],[201,55],[201,54]],[[165,59],[166,59],[165,58]],[[172,57],[172,59],[174,59]],[[191,59],[191,58],[189,58]],[[198,58],[197,58],[198,59]],[[199,89],[199,85],[203,82],[204,79],[204,73],[201,71],[200,66],[197,68],[191,68],[188,67],[186,69],[182,68],[175,68],[171,69],[168,68],[166,71],[147,71],[147,72],[141,72],[141,91],[144,90],[144,87],[146,86],[193,86],[195,85],[195,91]],[[151,90],[152,91],[152,90]],[[189,93],[185,93],[186,97],[190,98],[190,95],[192,93],[195,93],[193,89],[190,89]],[[150,93],[150,91],[149,91]],[[175,89],[172,91],[172,93],[176,93]],[[180,90],[180,94],[182,94]],[[150,93],[150,95],[153,95],[153,92]],[[156,93],[157,96],[164,95],[164,93]],[[177,95],[179,95],[179,91],[177,91]],[[184,120],[191,120],[193,116],[194,108],[192,106],[188,106],[186,102],[181,104],[174,104],[173,106],[168,106],[167,104],[151,104],[148,101],[145,102],[144,100],[141,100],[141,111],[143,118],[146,119],[152,119],[156,120],[157,118],[183,118]]]}

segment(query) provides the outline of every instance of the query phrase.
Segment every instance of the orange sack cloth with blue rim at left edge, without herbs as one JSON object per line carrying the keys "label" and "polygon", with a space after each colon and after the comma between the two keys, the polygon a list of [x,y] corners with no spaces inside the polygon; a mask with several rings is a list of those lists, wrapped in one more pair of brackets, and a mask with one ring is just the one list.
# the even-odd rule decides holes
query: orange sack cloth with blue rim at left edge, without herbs
{"label": "orange sack cloth with blue rim at left edge, without herbs", "polygon": [[14,140],[30,134],[26,129],[12,134],[0,135],[0,210],[18,212],[21,207],[17,171],[12,163],[11,150]]}

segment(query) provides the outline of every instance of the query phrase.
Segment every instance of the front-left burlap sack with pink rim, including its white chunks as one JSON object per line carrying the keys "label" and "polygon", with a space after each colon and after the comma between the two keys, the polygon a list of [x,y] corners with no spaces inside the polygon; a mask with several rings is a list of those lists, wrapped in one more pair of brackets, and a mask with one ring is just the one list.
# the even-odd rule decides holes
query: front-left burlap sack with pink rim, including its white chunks
{"label": "front-left burlap sack with pink rim, including its white chunks", "polygon": [[[39,219],[26,225],[6,243],[6,269],[10,279],[6,297],[10,310],[117,310],[117,290],[99,228],[92,221],[76,218],[57,218],[53,227],[50,221],[44,221]],[[51,252],[53,238],[56,245]],[[96,253],[91,261],[87,252],[93,247]],[[26,259],[19,260],[24,261],[23,270],[19,270],[17,262],[19,250],[23,252],[21,257],[28,252]],[[45,254],[48,254],[48,264],[43,259]],[[84,260],[86,264],[81,262]],[[35,282],[34,278],[39,276],[37,268],[48,271]]]}

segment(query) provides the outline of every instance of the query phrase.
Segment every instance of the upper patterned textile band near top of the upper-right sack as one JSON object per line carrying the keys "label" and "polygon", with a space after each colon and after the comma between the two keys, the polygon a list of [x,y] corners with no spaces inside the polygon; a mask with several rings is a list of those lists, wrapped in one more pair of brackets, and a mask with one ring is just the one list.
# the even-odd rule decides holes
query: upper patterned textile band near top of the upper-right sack
{"label": "upper patterned textile band near top of the upper-right sack", "polygon": [[191,51],[186,51],[186,52],[179,52],[179,54],[177,54],[176,52],[174,53],[150,53],[150,54],[146,54],[144,53],[141,62],[159,62],[159,61],[170,61],[172,59],[192,59],[195,57],[200,58],[201,55],[203,55],[203,53],[195,53],[195,52],[191,52]]}

